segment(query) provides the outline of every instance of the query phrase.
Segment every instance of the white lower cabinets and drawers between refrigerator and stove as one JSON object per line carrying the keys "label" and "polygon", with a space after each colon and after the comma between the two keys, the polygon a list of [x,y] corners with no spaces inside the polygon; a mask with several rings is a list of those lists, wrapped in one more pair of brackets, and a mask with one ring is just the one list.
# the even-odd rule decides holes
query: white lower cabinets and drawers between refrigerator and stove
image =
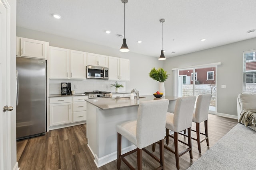
{"label": "white lower cabinets and drawers between refrigerator and stove", "polygon": [[50,98],[50,127],[86,121],[86,99],[88,96]]}

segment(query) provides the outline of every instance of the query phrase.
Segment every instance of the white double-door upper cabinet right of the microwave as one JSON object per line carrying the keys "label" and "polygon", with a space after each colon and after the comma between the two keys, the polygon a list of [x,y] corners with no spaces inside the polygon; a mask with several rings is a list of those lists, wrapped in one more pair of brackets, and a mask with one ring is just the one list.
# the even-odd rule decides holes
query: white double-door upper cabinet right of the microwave
{"label": "white double-door upper cabinet right of the microwave", "polygon": [[130,80],[130,60],[108,57],[108,80]]}

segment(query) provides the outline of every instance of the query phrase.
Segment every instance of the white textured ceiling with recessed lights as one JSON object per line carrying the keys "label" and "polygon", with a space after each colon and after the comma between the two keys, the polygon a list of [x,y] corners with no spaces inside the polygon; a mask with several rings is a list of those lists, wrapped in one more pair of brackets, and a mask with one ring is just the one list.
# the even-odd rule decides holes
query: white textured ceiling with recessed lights
{"label": "white textured ceiling with recessed lights", "polygon": [[[256,29],[256,0],[128,0],[125,7],[125,37],[134,53],[160,56],[161,18],[167,58],[256,37],[256,32],[246,33]],[[53,18],[53,13],[62,18]],[[116,35],[124,34],[124,4],[121,0],[17,0],[17,26],[119,50],[122,38]]]}

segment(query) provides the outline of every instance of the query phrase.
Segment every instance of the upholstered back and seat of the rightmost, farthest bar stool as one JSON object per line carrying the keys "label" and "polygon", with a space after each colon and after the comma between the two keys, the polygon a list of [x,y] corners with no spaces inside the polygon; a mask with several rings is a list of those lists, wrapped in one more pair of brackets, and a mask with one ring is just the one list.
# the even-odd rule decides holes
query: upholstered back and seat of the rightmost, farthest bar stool
{"label": "upholstered back and seat of the rightmost, farthest bar stool", "polygon": [[193,114],[193,122],[200,123],[208,119],[211,94],[200,94],[196,101],[196,111]]}

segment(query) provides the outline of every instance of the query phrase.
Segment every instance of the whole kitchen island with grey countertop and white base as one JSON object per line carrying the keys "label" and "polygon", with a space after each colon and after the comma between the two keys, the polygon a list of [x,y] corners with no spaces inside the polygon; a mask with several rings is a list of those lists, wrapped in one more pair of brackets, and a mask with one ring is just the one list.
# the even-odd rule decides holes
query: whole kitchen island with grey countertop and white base
{"label": "whole kitchen island with grey countertop and white base", "polygon": [[[173,112],[176,96],[165,96],[169,100],[168,112]],[[117,158],[116,125],[137,119],[140,102],[161,100],[153,95],[141,96],[139,100],[130,98],[87,99],[86,137],[88,147],[94,155],[94,162],[100,167]],[[135,145],[122,138],[122,152],[135,149]]]}

